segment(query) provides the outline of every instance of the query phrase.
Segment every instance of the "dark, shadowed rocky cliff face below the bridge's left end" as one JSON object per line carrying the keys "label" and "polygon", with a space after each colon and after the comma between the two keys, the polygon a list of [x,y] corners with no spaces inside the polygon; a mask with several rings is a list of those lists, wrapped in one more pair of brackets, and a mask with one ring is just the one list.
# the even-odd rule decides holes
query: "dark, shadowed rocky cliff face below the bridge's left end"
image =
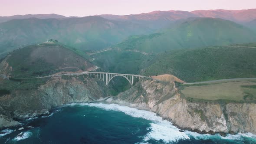
{"label": "dark, shadowed rocky cliff face below the bridge's left end", "polygon": [[[6,121],[11,118],[33,118],[47,115],[53,107],[79,102],[91,102],[108,95],[104,83],[89,77],[84,79],[61,77],[52,78],[37,89],[16,90],[0,97],[0,114]],[[0,117],[2,118],[2,117]],[[13,122],[2,127],[13,126]],[[0,125],[1,127],[1,125]]]}

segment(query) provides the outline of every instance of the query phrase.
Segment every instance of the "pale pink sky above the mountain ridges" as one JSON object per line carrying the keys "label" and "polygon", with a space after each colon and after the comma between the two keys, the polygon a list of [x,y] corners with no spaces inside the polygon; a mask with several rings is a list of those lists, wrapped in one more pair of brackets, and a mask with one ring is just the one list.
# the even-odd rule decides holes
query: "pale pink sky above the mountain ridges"
{"label": "pale pink sky above the mountain ridges", "polygon": [[91,16],[137,14],[155,10],[243,10],[256,0],[0,0],[0,16],[49,14]]}

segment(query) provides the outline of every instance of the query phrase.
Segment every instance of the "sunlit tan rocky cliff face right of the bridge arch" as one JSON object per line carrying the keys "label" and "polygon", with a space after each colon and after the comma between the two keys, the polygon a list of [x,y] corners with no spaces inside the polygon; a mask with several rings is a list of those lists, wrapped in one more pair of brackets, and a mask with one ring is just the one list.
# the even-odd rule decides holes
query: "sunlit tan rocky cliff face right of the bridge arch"
{"label": "sunlit tan rocky cliff face right of the bridge arch", "polygon": [[181,98],[174,82],[142,80],[118,95],[120,103],[153,111],[180,128],[198,132],[256,132],[256,104],[189,102]]}

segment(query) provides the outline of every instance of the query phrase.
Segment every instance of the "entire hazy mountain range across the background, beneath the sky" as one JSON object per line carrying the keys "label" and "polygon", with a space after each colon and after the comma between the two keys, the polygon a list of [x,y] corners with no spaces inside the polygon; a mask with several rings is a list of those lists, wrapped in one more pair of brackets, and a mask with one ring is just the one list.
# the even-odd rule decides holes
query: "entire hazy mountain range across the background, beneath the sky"
{"label": "entire hazy mountain range across the background, beneath the sky", "polygon": [[[255,41],[252,29],[256,30],[256,9],[170,10],[124,16],[0,16],[0,58],[13,49],[47,39],[57,39],[83,51],[136,46],[144,52],[161,52],[170,46],[174,49],[249,43]],[[147,50],[142,48],[145,46]]]}

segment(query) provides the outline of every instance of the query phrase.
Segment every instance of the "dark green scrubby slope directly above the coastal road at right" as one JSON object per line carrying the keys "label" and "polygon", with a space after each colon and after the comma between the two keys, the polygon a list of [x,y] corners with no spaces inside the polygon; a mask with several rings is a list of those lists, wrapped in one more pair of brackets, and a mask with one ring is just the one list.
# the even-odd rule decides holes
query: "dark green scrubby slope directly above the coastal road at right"
{"label": "dark green scrubby slope directly above the coastal road at right", "polygon": [[185,82],[256,77],[256,48],[214,46],[164,52],[143,75],[172,74]]}

